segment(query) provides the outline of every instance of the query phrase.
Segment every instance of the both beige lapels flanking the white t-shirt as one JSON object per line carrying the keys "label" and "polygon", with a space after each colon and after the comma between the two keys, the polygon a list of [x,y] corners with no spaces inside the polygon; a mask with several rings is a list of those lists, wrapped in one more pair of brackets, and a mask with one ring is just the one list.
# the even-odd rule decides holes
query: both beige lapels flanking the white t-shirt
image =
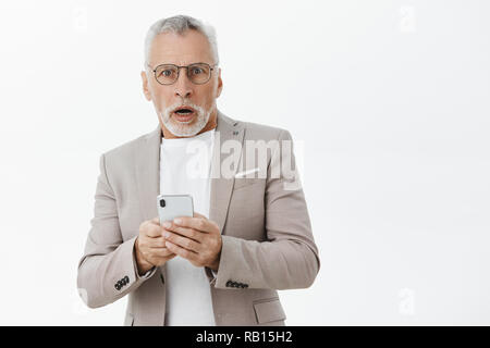
{"label": "both beige lapels flanking the white t-shirt", "polygon": [[[146,135],[143,141],[135,148],[134,163],[136,164],[136,185],[138,187],[140,214],[144,220],[151,220],[158,216],[157,196],[160,194],[160,146],[161,127],[158,127]],[[221,164],[230,153],[222,153],[221,145],[226,140],[240,142],[238,153],[234,153],[240,159],[244,138],[244,128],[236,122],[218,110],[217,128],[215,134],[215,145],[211,157],[211,189],[209,203],[209,219],[215,221],[220,231],[224,229],[231,192],[233,189],[234,174],[237,163],[230,175],[222,175]]]}

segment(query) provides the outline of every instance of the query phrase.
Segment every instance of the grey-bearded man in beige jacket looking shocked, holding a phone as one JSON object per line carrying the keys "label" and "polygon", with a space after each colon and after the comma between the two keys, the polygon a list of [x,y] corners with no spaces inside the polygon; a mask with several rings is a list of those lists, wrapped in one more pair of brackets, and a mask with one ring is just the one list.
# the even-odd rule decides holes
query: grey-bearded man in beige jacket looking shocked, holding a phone
{"label": "grey-bearded man in beige jacket looking shocked, holding a phone", "polygon": [[[100,157],[79,294],[90,308],[128,295],[125,325],[284,325],[277,290],[309,287],[320,268],[297,171],[283,170],[296,167],[291,135],[217,109],[211,26],[177,15],[145,42],[143,91],[159,125]],[[212,153],[198,177],[196,140]],[[246,145],[266,141],[280,146],[259,151],[259,167],[245,161],[258,148]],[[191,195],[194,216],[160,225],[159,194]]]}

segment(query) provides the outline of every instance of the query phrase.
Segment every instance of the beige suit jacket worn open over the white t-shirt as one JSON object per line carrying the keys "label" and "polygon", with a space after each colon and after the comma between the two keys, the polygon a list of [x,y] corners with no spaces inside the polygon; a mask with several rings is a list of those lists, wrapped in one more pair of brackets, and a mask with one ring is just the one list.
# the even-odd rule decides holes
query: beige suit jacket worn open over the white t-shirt
{"label": "beige suit jacket worn open over the white t-shirt", "polygon": [[[243,145],[237,154],[246,166],[234,169],[236,174],[254,167],[243,160],[246,140],[291,141],[285,129],[232,120],[220,111],[216,132],[213,165],[230,157],[220,144]],[[161,136],[158,125],[100,157],[95,215],[78,262],[78,293],[88,307],[128,295],[124,325],[166,324],[166,266],[139,276],[134,257],[140,223],[158,216]],[[320,269],[303,189],[285,189],[290,178],[271,175],[271,163],[283,158],[284,152],[268,151],[267,178],[225,177],[211,170],[209,219],[220,226],[222,250],[217,276],[205,270],[217,325],[284,325],[277,290],[307,288]],[[290,160],[294,167],[294,154]]]}

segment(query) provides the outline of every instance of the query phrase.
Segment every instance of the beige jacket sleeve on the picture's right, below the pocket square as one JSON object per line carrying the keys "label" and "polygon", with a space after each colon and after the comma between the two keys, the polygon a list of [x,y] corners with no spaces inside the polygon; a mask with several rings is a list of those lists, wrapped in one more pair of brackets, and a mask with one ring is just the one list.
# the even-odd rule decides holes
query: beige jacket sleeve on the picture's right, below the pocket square
{"label": "beige jacket sleeve on the picture's right, below the pocket square", "polygon": [[[267,239],[245,240],[223,235],[215,279],[217,288],[306,288],[318,274],[320,259],[291,134],[282,130],[278,140],[280,151],[272,151],[265,192]],[[290,149],[283,144],[289,144]],[[290,166],[290,163],[294,173],[285,175],[283,165]],[[280,175],[272,175],[278,169],[281,169]]]}

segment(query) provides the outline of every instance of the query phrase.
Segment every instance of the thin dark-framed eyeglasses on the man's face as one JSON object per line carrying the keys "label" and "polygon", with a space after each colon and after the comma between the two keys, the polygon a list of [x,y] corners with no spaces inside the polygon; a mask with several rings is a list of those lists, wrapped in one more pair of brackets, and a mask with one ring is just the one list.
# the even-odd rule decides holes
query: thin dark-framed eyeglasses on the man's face
{"label": "thin dark-framed eyeglasses on the man's face", "polygon": [[[181,67],[185,67],[187,71],[188,79],[196,85],[206,84],[211,78],[211,72],[215,70],[215,65],[208,63],[193,63],[189,65],[179,66],[175,64],[160,64],[152,70],[155,78],[160,85],[172,85],[179,79]],[[148,64],[151,69],[151,66]]]}

